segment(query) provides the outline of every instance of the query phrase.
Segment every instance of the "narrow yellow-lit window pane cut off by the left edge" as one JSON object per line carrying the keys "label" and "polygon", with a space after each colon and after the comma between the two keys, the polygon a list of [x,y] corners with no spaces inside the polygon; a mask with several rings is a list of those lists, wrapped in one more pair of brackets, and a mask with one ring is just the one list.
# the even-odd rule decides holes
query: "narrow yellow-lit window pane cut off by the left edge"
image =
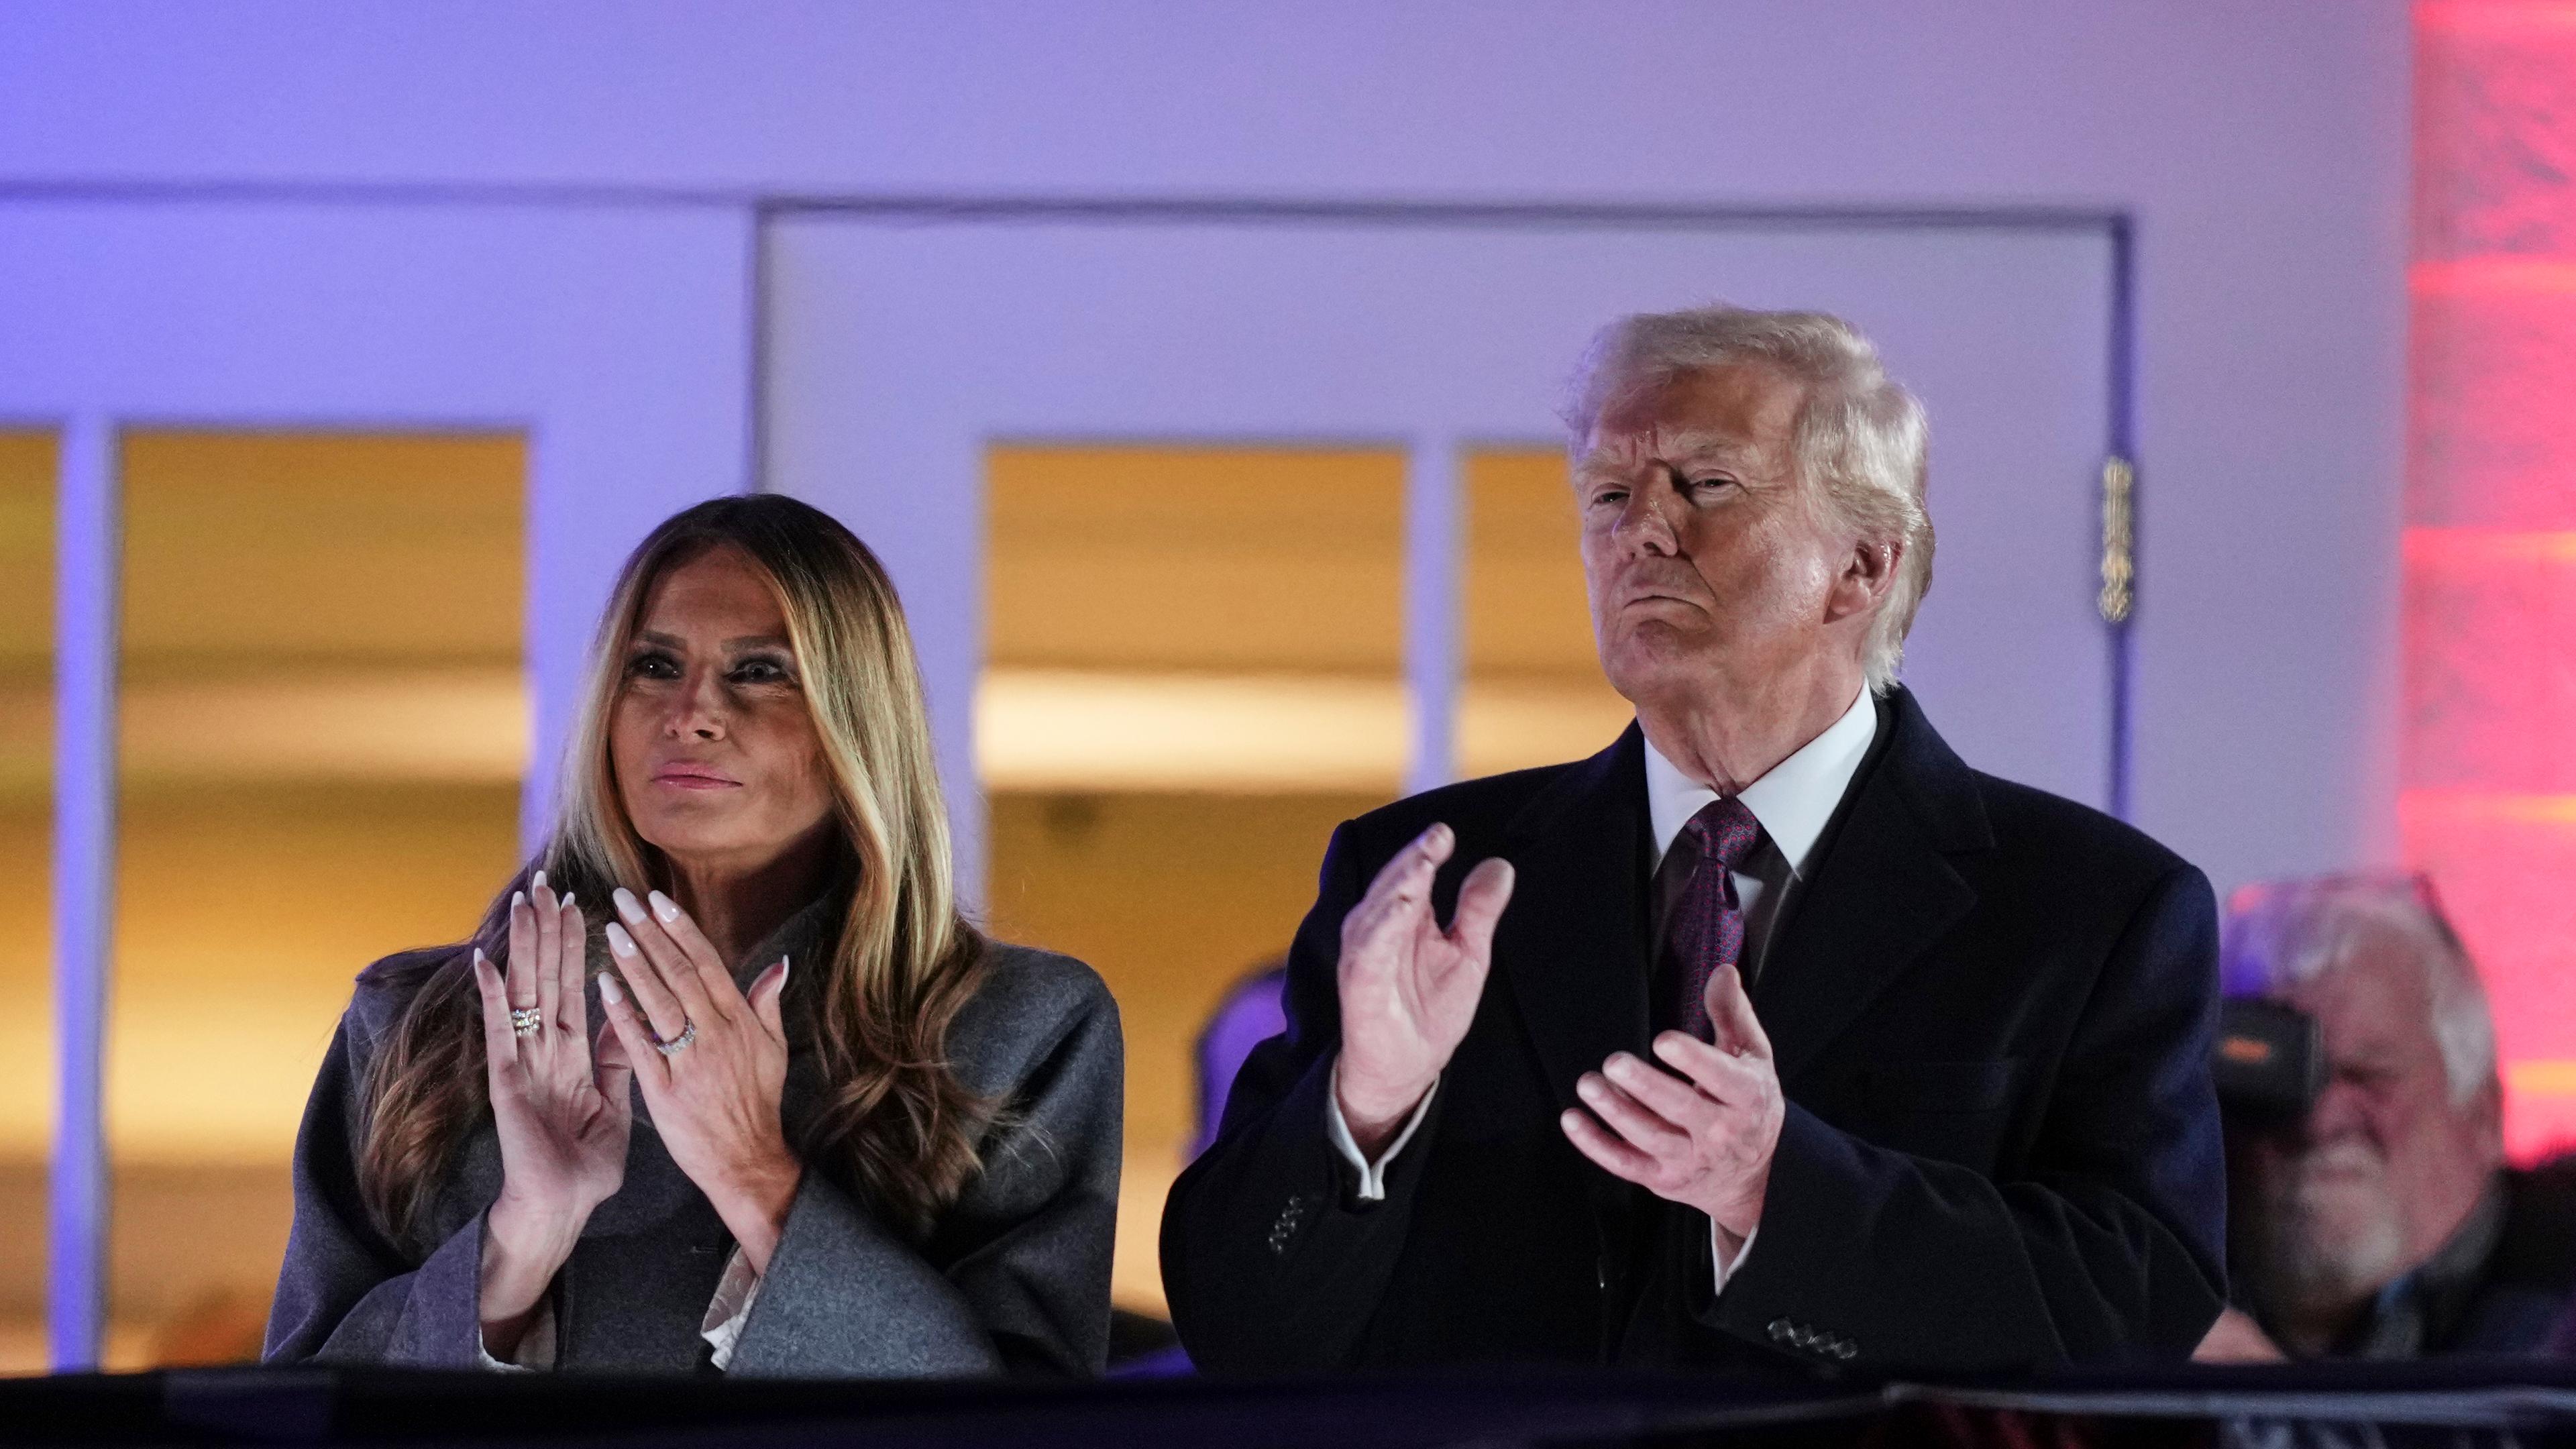
{"label": "narrow yellow-lit window pane cut off by the left edge", "polygon": [[0,1374],[44,1354],[44,1171],[54,1134],[52,433],[0,431]]}

